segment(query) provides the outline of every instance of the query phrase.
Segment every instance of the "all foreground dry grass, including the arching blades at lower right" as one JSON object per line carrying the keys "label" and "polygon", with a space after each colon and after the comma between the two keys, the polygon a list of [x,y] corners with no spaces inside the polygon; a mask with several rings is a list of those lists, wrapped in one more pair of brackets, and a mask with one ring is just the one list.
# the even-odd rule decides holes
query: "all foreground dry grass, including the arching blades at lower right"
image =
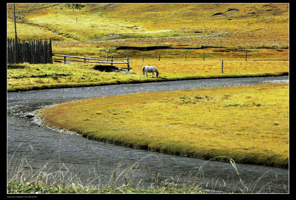
{"label": "all foreground dry grass, including the arching blades at lower right", "polygon": [[[21,144],[22,145],[22,144]],[[19,148],[17,148],[18,150]],[[16,152],[17,152],[16,150]],[[218,180],[207,181],[207,177],[204,174],[205,165],[211,160],[215,160],[221,157],[215,157],[213,159],[207,160],[200,167],[196,167],[197,173],[193,176],[189,173],[186,181],[181,181],[181,177],[184,177],[184,174],[180,173],[177,178],[165,178],[162,179],[159,177],[159,173],[155,172],[154,178],[150,180],[151,185],[149,188],[140,188],[141,182],[146,181],[144,178],[140,180],[133,180],[133,177],[136,176],[137,173],[142,173],[140,162],[145,160],[148,157],[153,155],[147,155],[142,159],[138,160],[133,165],[128,165],[125,169],[122,169],[123,166],[123,158],[118,163],[118,166],[115,169],[110,169],[110,179],[107,183],[101,183],[100,176],[94,177],[92,180],[81,181],[80,177],[75,173],[75,169],[73,170],[67,167],[64,163],[59,162],[58,170],[53,170],[49,168],[50,162],[58,161],[60,158],[51,160],[46,162],[44,166],[40,166],[39,169],[33,169],[30,165],[29,157],[31,153],[27,154],[28,151],[33,151],[33,147],[30,145],[28,149],[25,149],[23,153],[20,153],[22,158],[20,160],[15,159],[13,162],[13,158],[16,155],[16,152],[12,155],[11,160],[8,163],[8,179],[7,179],[7,192],[8,193],[102,193],[102,192],[111,192],[111,193],[184,193],[184,192],[209,192],[207,189],[202,189],[201,187],[211,188],[213,192],[215,190],[223,190],[223,186],[225,187],[228,184],[228,180],[223,181],[223,186],[221,188],[221,184]],[[229,160],[232,168],[234,168],[236,174],[239,177],[238,169],[235,165],[234,160],[229,157],[223,157]],[[161,160],[158,158],[161,163]],[[161,163],[162,165],[162,163]],[[95,171],[99,174],[99,167],[93,167]],[[26,170],[29,169],[29,170]],[[268,171],[265,173],[267,174]],[[271,190],[270,187],[266,191],[265,186],[268,186],[272,181],[269,181],[264,185],[259,191],[256,191],[256,184],[260,179],[265,175],[263,174],[258,180],[252,181],[249,185],[246,185],[242,179],[239,177],[241,182],[241,186],[239,189],[233,188],[231,192],[237,193],[272,193],[274,191]],[[144,176],[143,176],[144,177]],[[124,180],[124,183],[123,181]],[[175,181],[176,180],[176,181]],[[231,183],[230,183],[231,184]],[[219,186],[219,187],[218,187]],[[172,191],[173,190],[173,191]]]}

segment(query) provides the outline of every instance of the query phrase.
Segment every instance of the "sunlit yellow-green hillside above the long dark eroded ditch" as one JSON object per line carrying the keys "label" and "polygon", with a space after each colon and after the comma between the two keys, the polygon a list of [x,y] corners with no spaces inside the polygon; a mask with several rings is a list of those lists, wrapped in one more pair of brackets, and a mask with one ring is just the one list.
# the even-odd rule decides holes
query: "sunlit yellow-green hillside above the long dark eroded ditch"
{"label": "sunlit yellow-green hillside above the long dark eroded ditch", "polygon": [[[101,46],[289,45],[289,4],[15,4],[15,7],[21,39],[108,41],[100,43]],[[13,4],[7,4],[8,37],[14,37],[12,22]]]}

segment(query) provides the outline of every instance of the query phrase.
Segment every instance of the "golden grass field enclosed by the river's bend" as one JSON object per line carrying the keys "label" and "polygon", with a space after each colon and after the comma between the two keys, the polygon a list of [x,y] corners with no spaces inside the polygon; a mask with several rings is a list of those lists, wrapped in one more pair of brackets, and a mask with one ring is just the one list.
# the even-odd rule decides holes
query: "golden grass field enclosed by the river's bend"
{"label": "golden grass field enclosed by the river's bend", "polygon": [[288,94],[289,84],[138,93],[63,103],[41,117],[90,139],[288,167]]}

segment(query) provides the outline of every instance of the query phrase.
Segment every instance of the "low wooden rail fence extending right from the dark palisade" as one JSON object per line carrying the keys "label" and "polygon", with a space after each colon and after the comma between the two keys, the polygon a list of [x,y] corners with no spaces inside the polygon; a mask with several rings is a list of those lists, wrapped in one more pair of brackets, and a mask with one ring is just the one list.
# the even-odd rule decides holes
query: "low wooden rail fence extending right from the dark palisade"
{"label": "low wooden rail fence extending right from the dark palisade", "polygon": [[[107,64],[127,64],[127,67],[118,67],[120,69],[127,69],[128,71],[132,68],[130,68],[129,66],[129,58],[119,58],[119,59],[115,59],[115,58],[111,58],[108,59],[108,57],[106,59],[99,59],[99,58],[87,58],[87,57],[78,57],[78,56],[67,56],[67,55],[58,55],[58,54],[52,54],[52,56],[61,56],[64,57],[64,59],[58,59],[54,57],[54,62],[59,62],[59,63],[72,63],[72,62],[89,62],[89,63],[107,63]],[[113,57],[113,56],[112,56]],[[66,58],[76,58],[76,60],[69,60]],[[83,60],[77,60],[77,58],[83,59]],[[87,59],[87,60],[86,60]],[[99,60],[99,61],[89,61],[89,60]],[[122,62],[113,62],[113,60],[122,60]],[[123,60],[126,60],[126,62],[123,62]],[[72,61],[72,62],[66,62],[66,61]],[[106,62],[103,62],[106,61]],[[108,62],[111,61],[111,62]]]}

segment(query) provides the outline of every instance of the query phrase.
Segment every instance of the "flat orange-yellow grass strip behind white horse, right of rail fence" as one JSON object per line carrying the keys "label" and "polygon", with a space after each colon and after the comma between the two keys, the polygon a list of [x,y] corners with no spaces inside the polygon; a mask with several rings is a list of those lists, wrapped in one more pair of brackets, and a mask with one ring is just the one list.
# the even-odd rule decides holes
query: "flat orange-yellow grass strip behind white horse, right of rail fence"
{"label": "flat orange-yellow grass strip behind white horse, right of rail fence", "polygon": [[[141,59],[131,61],[131,71],[142,73],[144,65],[156,66],[160,77],[166,75],[218,75],[221,74],[221,60],[181,60],[181,59]],[[256,74],[256,73],[278,73],[289,71],[289,61],[245,61],[245,60],[223,60],[223,74]]]}

